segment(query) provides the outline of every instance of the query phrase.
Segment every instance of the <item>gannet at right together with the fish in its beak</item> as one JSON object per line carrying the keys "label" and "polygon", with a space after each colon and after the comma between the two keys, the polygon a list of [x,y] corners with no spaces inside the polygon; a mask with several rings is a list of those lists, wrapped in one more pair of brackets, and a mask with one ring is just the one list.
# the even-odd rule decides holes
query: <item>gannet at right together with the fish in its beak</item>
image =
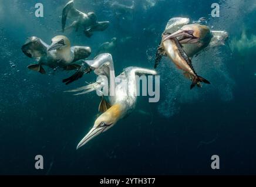
{"label": "gannet at right together with the fish in its beak", "polygon": [[[169,56],[179,68],[187,72],[185,75],[193,80],[193,84],[190,87],[193,88],[195,84],[201,86],[200,82],[207,84],[210,84],[210,82],[193,73],[191,58],[201,50],[206,49],[207,46],[215,47],[220,45],[223,42],[221,39],[227,39],[228,34],[224,31],[211,31],[206,25],[188,25],[189,22],[188,18],[172,18],[169,20],[162,34],[154,68],[160,63],[163,55]],[[187,68],[181,67],[182,65]]]}

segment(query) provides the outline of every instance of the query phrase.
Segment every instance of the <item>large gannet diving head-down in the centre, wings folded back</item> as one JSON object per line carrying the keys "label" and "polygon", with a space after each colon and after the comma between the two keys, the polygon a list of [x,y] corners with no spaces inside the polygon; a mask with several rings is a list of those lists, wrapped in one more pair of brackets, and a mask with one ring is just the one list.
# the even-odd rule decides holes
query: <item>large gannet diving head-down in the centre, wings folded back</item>
{"label": "large gannet diving head-down in the centre, wings folded back", "polygon": [[[123,117],[129,115],[130,112],[135,108],[137,100],[137,85],[136,85],[136,75],[156,75],[157,72],[154,70],[149,70],[146,68],[139,67],[128,67],[124,71],[115,77],[114,64],[112,56],[109,53],[99,54],[95,60],[83,60],[87,67],[82,66],[80,70],[72,77],[66,79],[65,81],[74,81],[81,77],[85,72],[94,70],[96,75],[106,76],[110,82],[114,82],[114,94],[111,93],[111,84],[108,85],[108,95],[109,103],[102,98],[99,105],[99,111],[102,115],[97,117],[92,129],[85,137],[80,141],[77,148],[82,147],[93,137],[96,137],[100,133],[110,129]],[[108,81],[107,81],[108,82]],[[126,86],[124,86],[124,83]],[[75,95],[85,94],[92,91],[99,91],[100,88],[105,86],[106,81],[99,77],[97,82],[83,86],[81,88],[73,89],[66,92],[80,92]],[[127,88],[127,89],[126,89]]]}

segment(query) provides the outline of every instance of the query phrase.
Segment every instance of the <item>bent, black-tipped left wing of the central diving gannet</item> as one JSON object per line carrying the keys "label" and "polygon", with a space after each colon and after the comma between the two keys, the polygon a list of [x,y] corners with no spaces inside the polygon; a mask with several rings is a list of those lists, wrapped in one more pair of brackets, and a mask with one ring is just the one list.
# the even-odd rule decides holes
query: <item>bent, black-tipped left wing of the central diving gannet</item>
{"label": "bent, black-tipped left wing of the central diving gannet", "polygon": [[66,85],[72,83],[83,77],[84,74],[88,74],[93,71],[96,75],[105,75],[107,78],[110,76],[110,71],[114,74],[114,64],[111,54],[103,53],[95,57],[94,60],[81,60],[82,65],[75,74],[71,77],[63,79]]}

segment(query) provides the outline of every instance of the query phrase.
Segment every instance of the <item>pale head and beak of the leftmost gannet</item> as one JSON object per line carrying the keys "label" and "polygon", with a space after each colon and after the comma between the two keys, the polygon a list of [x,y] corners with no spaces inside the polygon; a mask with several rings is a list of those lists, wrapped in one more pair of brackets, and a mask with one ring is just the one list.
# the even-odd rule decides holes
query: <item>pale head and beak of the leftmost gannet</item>
{"label": "pale head and beak of the leftmost gannet", "polygon": [[70,48],[70,41],[66,36],[55,36],[52,39],[52,44],[48,47],[48,51],[65,50]]}

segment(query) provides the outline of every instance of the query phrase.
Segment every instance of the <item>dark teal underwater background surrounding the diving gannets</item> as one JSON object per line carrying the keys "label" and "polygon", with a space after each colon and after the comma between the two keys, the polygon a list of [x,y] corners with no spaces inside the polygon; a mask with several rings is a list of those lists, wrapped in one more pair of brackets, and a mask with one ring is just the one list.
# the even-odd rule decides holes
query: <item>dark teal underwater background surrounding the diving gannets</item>
{"label": "dark teal underwater background surrounding the diving gannets", "polygon": [[[44,17],[35,17],[35,4]],[[82,32],[62,33],[62,8],[68,1],[0,0],[0,174],[1,175],[187,175],[256,174],[256,1],[135,1],[133,18],[120,19],[105,1],[76,0],[75,8],[109,20],[104,32],[91,38]],[[131,5],[132,1],[119,1]],[[220,4],[220,18],[211,18],[211,4]],[[230,36],[225,46],[193,58],[198,74],[211,81],[189,89],[190,81],[164,58],[157,68],[160,101],[139,97],[133,113],[111,130],[76,150],[93,126],[100,98],[95,92],[73,96],[63,91],[93,82],[93,74],[70,85],[73,72],[28,70],[35,62],[21,46],[38,36],[50,44],[59,34],[72,46],[90,46],[127,38],[111,54],[116,74],[123,68],[153,68],[166,23],[173,17],[210,18],[213,30]],[[35,155],[44,169],[35,169]],[[211,169],[219,155],[220,169]]]}

